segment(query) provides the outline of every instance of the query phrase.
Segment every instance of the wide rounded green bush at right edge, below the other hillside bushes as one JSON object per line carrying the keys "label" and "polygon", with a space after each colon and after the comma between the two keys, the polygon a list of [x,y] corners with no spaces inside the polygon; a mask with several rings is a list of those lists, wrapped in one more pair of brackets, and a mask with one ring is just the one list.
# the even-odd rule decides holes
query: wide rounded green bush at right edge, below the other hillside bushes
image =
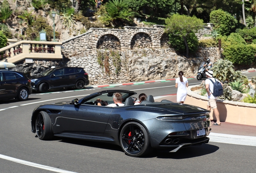
{"label": "wide rounded green bush at right edge, below the other hillside bushes", "polygon": [[256,60],[256,47],[251,44],[232,44],[223,51],[225,59],[234,64],[250,65]]}

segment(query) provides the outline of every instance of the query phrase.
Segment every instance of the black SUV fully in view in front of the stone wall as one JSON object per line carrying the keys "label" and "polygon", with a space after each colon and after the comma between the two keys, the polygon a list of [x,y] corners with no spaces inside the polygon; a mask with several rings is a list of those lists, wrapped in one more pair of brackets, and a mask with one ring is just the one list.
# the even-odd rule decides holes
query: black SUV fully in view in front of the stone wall
{"label": "black SUV fully in view in front of the stone wall", "polygon": [[31,76],[32,90],[41,93],[51,89],[83,89],[88,84],[88,74],[80,67],[50,68],[37,76]]}

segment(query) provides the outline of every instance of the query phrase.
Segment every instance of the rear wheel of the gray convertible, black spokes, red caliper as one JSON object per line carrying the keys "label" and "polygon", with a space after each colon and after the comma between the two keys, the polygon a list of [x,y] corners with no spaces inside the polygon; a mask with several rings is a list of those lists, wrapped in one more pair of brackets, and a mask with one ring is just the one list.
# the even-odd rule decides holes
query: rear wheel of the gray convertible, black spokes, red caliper
{"label": "rear wheel of the gray convertible, black spokes, red caliper", "polygon": [[146,155],[151,149],[146,129],[136,122],[124,125],[120,133],[120,144],[124,152],[132,157]]}

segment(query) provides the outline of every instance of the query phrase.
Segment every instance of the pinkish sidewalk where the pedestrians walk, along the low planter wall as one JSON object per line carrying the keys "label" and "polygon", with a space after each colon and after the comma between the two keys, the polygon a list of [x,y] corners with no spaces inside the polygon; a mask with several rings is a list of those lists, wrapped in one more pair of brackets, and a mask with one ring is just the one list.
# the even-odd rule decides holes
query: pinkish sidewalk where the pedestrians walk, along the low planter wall
{"label": "pinkish sidewalk where the pedestrians walk, along the low planter wall", "polygon": [[[163,99],[172,101],[174,103],[177,102],[176,95],[166,95],[162,97],[155,97],[155,101],[161,101]],[[186,104],[186,101],[185,101]],[[202,108],[206,109],[206,105],[202,105]],[[214,123],[213,121],[211,122]],[[252,136],[256,137],[256,126],[250,125],[240,125],[233,123],[221,122],[221,126],[212,125],[211,126],[212,133],[223,133],[229,135],[242,135],[242,136]]]}

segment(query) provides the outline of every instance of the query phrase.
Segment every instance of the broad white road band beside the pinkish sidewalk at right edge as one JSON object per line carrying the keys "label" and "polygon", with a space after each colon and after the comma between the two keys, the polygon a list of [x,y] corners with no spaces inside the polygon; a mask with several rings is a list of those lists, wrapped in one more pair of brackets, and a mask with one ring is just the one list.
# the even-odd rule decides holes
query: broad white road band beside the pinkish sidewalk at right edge
{"label": "broad white road band beside the pinkish sidewalk at right edge", "polygon": [[236,145],[249,145],[249,146],[256,147],[256,137],[228,135],[228,134],[212,133],[212,132],[208,137],[210,138],[210,142],[228,143],[228,144],[236,144]]}

